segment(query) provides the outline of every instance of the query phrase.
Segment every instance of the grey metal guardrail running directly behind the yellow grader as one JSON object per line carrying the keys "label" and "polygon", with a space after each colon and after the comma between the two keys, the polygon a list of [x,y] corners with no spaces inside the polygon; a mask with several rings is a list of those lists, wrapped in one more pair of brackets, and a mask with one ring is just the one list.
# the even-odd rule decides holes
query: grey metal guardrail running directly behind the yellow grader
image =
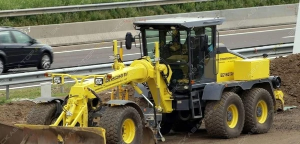
{"label": "grey metal guardrail running directly behind the yellow grader", "polygon": [[[262,57],[262,54],[268,54],[269,56],[276,56],[280,54],[291,54],[293,49],[293,44],[279,44],[270,45],[262,47],[252,47],[245,49],[232,50],[239,54],[242,54],[248,58]],[[124,62],[124,64],[129,65],[132,61]],[[33,82],[45,82],[51,81],[51,77],[45,77],[46,72],[51,73],[67,73],[71,75],[91,75],[91,74],[105,74],[112,72],[112,63],[90,65],[90,66],[79,66],[64,69],[54,69],[36,72],[24,72],[9,75],[0,75],[0,86],[6,86],[6,99],[9,99],[9,86],[17,84],[27,84]]]}

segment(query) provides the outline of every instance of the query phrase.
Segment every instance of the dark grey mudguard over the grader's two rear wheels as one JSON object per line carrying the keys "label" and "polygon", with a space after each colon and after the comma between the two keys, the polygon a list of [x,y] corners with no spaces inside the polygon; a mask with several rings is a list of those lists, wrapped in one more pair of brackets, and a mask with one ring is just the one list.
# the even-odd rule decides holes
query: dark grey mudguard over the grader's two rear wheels
{"label": "dark grey mudguard over the grader's two rear wheels", "polygon": [[221,83],[208,83],[205,85],[203,90],[202,100],[220,100],[222,92],[225,88],[238,88],[240,87],[242,90],[251,89],[255,84],[262,84],[259,87],[265,88],[270,95],[274,98],[274,91],[272,90],[272,82],[266,79],[253,80],[253,81],[229,81],[229,82],[221,82]]}

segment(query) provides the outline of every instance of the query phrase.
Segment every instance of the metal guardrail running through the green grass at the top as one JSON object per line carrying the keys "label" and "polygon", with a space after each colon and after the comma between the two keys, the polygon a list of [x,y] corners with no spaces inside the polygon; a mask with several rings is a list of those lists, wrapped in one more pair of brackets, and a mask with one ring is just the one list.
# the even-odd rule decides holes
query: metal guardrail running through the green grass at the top
{"label": "metal guardrail running through the green grass at the top", "polygon": [[122,1],[122,2],[82,4],[82,5],[11,9],[11,10],[1,10],[0,17],[24,16],[24,15],[35,15],[35,14],[46,14],[46,13],[76,12],[76,11],[106,10],[106,9],[114,9],[114,8],[143,7],[143,6],[179,4],[179,3],[202,2],[202,1],[214,1],[214,0],[135,0],[135,1]]}

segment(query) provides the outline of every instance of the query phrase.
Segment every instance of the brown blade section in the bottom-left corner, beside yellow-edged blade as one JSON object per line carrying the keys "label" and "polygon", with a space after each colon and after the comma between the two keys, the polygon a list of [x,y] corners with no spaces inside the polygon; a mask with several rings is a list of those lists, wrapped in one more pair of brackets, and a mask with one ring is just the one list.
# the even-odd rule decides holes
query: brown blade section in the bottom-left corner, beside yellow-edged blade
{"label": "brown blade section in the bottom-left corner, beside yellow-edged blade", "polygon": [[23,130],[14,126],[0,123],[0,144],[20,144]]}

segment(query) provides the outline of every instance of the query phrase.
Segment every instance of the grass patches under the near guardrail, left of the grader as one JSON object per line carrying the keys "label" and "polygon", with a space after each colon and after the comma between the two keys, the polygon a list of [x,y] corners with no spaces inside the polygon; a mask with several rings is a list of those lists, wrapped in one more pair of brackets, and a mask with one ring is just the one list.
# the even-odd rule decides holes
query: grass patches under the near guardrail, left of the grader
{"label": "grass patches under the near guardrail, left of the grader", "polygon": [[[60,85],[51,85],[51,96],[52,97],[65,97],[68,95],[71,86],[74,83],[66,83],[63,85],[63,93],[60,92]],[[9,99],[6,100],[5,91],[0,91],[0,105],[11,102],[12,99],[34,99],[40,97],[40,87],[24,88],[24,89],[13,89],[9,90]]]}

